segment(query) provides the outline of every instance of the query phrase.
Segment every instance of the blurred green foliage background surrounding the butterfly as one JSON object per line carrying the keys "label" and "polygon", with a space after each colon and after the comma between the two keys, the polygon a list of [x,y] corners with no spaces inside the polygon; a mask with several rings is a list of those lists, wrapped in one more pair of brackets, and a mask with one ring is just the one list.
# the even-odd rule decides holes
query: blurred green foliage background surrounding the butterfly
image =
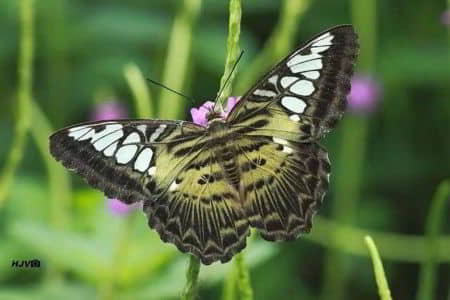
{"label": "blurred green foliage background surrounding the butterfly", "polygon": [[[88,120],[191,120],[219,88],[228,1],[35,0],[33,13],[30,3],[0,1],[0,299],[177,299],[189,256],[139,207],[54,162],[48,135]],[[361,43],[348,113],[323,140],[333,164],[323,209],[295,242],[253,235],[254,299],[379,299],[365,234],[394,299],[450,299],[450,4],[242,6],[235,96],[328,27],[352,23]],[[30,259],[41,267],[11,267]],[[225,292],[232,274],[233,262],[202,266],[199,299],[239,299]]]}

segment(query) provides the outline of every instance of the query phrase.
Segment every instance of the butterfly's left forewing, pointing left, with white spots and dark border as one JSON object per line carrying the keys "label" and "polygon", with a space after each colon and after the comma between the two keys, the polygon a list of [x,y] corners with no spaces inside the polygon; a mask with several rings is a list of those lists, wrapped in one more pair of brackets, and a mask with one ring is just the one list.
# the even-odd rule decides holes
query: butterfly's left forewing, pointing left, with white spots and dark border
{"label": "butterfly's left forewing, pointing left, with white spots and dark border", "polygon": [[133,203],[167,189],[184,163],[200,152],[190,149],[203,135],[203,127],[189,122],[90,122],[54,133],[50,152],[107,196]]}

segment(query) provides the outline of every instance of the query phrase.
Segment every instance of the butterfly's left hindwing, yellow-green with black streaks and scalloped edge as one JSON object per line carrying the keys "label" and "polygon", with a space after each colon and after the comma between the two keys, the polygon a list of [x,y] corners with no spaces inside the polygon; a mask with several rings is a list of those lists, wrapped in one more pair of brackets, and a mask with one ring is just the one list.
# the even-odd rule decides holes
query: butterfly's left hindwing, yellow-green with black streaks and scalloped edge
{"label": "butterfly's left hindwing, yellow-green with black streaks and scalloped edge", "polygon": [[245,247],[250,233],[239,191],[218,154],[226,147],[211,148],[208,144],[208,150],[185,166],[166,193],[144,206],[150,227],[163,241],[195,254],[204,264],[230,260]]}

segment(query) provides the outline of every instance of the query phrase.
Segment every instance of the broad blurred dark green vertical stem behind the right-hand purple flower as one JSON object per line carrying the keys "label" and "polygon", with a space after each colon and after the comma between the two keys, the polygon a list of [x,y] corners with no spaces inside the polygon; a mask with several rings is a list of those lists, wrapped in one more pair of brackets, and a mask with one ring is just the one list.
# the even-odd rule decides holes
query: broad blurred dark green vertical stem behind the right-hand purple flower
{"label": "broad blurred dark green vertical stem behind the right-hand purple flower", "polygon": [[[376,1],[352,0],[352,18],[361,44],[358,66],[365,72],[373,72],[375,64]],[[337,159],[339,173],[336,180],[336,197],[332,217],[340,223],[351,224],[357,212],[362,180],[362,168],[366,152],[368,121],[362,116],[347,116],[341,124],[342,139]],[[331,239],[342,239],[332,236]],[[350,260],[337,250],[328,250],[325,259],[322,299],[344,299]]]}

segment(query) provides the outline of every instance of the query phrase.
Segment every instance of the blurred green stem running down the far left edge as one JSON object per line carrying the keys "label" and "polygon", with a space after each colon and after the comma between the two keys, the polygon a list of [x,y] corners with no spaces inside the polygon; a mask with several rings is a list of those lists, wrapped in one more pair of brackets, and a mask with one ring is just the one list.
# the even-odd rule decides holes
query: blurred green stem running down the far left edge
{"label": "blurred green stem running down the far left edge", "polygon": [[17,121],[14,140],[6,165],[0,176],[0,208],[8,197],[14,174],[23,158],[26,135],[30,128],[30,101],[33,76],[33,0],[21,0],[19,5],[20,46],[19,46],[19,88],[17,91]]}

